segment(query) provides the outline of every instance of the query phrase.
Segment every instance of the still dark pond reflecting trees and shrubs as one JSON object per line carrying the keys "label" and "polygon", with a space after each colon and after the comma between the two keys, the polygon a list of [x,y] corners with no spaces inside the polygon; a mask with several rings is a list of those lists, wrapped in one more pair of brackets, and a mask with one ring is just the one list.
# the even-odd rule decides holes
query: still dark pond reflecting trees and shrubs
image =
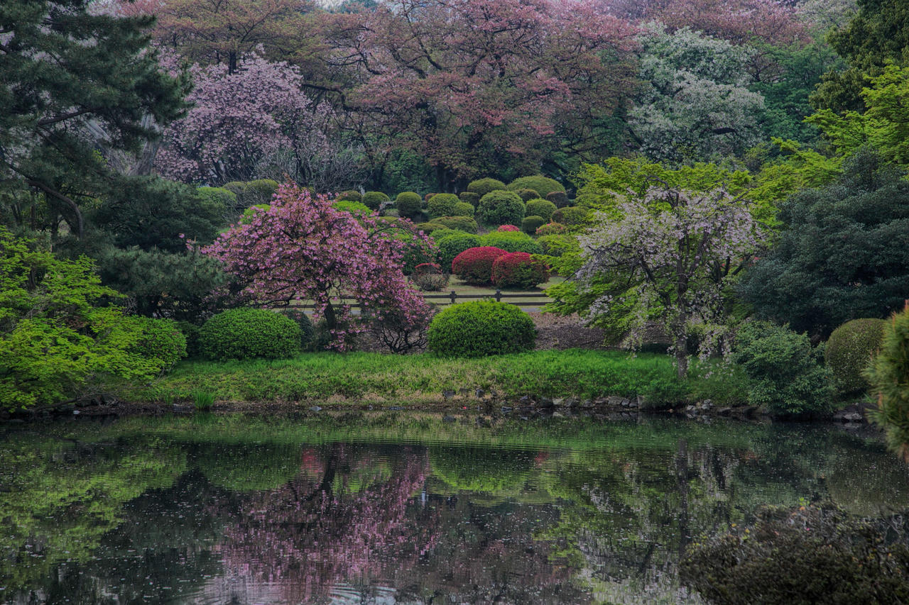
{"label": "still dark pond reflecting trees and shrubs", "polygon": [[686,603],[764,504],[909,509],[874,436],[812,424],[350,412],[0,432],[0,602]]}

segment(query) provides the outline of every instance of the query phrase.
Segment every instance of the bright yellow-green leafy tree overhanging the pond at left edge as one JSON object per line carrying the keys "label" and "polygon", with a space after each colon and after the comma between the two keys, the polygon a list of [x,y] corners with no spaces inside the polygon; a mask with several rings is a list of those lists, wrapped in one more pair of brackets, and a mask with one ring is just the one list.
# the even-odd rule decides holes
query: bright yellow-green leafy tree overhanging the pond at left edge
{"label": "bright yellow-green leafy tree overhanging the pond at left edge", "polygon": [[0,409],[61,402],[99,382],[165,369],[140,351],[139,324],[100,306],[116,295],[85,256],[61,261],[0,228]]}

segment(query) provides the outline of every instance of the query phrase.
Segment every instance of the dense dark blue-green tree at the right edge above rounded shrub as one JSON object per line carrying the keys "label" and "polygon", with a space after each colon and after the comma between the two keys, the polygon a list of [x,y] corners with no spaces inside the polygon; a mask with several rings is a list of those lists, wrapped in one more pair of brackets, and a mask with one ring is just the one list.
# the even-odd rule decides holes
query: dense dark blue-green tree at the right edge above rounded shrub
{"label": "dense dark blue-green tree at the right edge above rounded shrub", "polygon": [[764,319],[826,336],[859,317],[886,317],[909,292],[909,182],[863,150],[837,182],[784,203],[776,247],[739,292]]}

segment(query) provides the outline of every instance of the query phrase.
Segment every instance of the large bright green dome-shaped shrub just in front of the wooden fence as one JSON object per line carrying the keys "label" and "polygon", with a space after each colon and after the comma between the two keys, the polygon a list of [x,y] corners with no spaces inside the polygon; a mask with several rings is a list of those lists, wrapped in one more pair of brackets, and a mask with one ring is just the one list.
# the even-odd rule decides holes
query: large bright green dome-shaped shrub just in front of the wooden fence
{"label": "large bright green dome-shaped shrub just in front of the wooden fence", "polygon": [[427,334],[430,351],[455,357],[531,351],[535,340],[530,315],[494,301],[453,304],[435,315]]}

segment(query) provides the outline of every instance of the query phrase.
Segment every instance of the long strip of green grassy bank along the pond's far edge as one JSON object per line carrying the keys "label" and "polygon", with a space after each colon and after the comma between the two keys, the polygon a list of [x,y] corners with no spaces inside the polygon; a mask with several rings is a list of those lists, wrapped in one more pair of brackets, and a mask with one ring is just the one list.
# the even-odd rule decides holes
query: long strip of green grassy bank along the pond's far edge
{"label": "long strip of green grassy bank along the pond's far edge", "polygon": [[[438,403],[443,392],[494,392],[501,400],[523,395],[596,398],[643,396],[652,405],[709,398],[743,402],[742,381],[728,369],[706,377],[695,368],[675,379],[665,355],[600,351],[540,351],[480,359],[440,359],[430,354],[304,353],[275,362],[183,362],[154,384],[127,397],[140,402],[187,402],[191,393],[219,402]],[[489,395],[486,395],[487,398]],[[461,398],[459,394],[458,399]]]}

